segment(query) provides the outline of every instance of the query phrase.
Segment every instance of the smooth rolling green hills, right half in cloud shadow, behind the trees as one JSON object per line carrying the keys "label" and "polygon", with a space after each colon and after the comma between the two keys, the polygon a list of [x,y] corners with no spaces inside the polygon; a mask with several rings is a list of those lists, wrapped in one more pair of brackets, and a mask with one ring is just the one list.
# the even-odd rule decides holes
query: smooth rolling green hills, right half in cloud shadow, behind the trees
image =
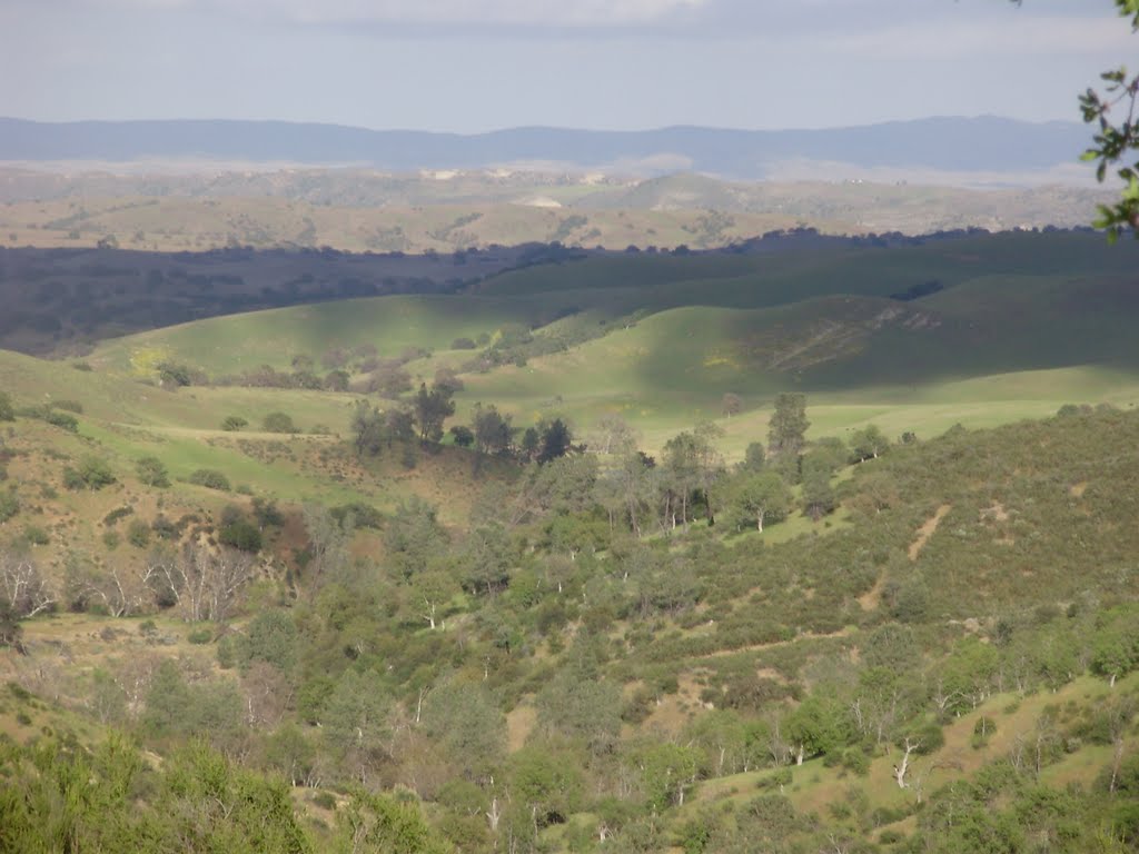
{"label": "smooth rolling green hills, right half in cloud shadow, behind the trees", "polygon": [[[653,449],[718,419],[731,453],[765,434],[767,408],[787,389],[811,395],[826,433],[868,419],[920,435],[993,425],[1054,412],[1090,388],[1097,400],[1134,402],[1132,247],[1105,251],[1080,233],[890,248],[811,233],[768,243],[743,254],[588,257],[507,271],[453,295],[216,318],[107,342],[90,362],[146,377],[170,360],[219,377],[262,364],[287,371],[296,356],[319,363],[330,347],[371,345],[403,362],[412,385],[441,367],[459,371],[459,418],[493,402],[522,425],[563,414],[584,432],[618,413]],[[909,298],[913,288],[931,293]],[[899,295],[907,298],[891,298]],[[484,344],[451,350],[461,338]],[[730,419],[728,393],[744,403]],[[342,424],[316,410],[311,418]]]}

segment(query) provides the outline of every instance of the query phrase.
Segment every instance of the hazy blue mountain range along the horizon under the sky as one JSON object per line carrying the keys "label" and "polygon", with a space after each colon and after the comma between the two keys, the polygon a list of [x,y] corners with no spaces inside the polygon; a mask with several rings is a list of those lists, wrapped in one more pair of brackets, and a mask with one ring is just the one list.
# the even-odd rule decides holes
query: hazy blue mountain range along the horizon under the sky
{"label": "hazy blue mountain range along the horizon under the sky", "polygon": [[516,128],[470,136],[289,122],[56,124],[0,118],[0,161],[199,158],[353,164],[395,172],[540,163],[649,174],[693,171],[753,180],[769,176],[776,164],[794,161],[863,169],[1023,173],[1074,163],[1088,138],[1087,128],[1077,123],[1033,124],[991,116],[829,130]]}

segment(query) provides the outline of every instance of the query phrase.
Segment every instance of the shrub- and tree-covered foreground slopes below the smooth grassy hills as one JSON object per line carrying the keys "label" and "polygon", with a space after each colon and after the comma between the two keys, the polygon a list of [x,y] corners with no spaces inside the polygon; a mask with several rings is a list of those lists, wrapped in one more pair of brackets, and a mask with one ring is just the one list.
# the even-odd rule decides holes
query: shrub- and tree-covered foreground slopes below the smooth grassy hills
{"label": "shrub- and tree-covered foreground slopes below the smooth grassy hills", "polygon": [[[432,452],[452,413],[439,383],[407,409],[362,403],[349,444],[364,463]],[[52,609],[153,619],[108,623],[118,654],[89,671],[27,680],[125,736],[3,747],[0,832],[28,851],[68,834],[106,851],[1133,849],[1139,418],[1065,408],[904,443],[808,442],[808,420],[780,396],[765,446],[729,467],[710,425],[654,458],[618,419],[579,438],[480,407],[459,444],[514,474],[487,477],[469,524],[420,499],[311,503],[286,572],[263,550],[286,518],[260,499],[214,527],[133,519],[130,560],[76,563],[62,589],[7,549],[13,648],[18,618]],[[3,703],[50,705],[22,697]],[[1065,786],[1072,757],[1091,772]],[[298,818],[285,781],[327,808]]]}

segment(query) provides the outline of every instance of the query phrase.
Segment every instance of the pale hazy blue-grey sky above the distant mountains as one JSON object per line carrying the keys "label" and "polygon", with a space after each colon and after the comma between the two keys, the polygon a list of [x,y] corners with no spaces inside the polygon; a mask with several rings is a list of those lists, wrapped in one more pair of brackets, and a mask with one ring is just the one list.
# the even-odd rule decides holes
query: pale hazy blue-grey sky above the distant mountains
{"label": "pale hazy blue-grey sky above the distant mountains", "polygon": [[1111,0],[0,0],[0,115],[475,132],[1077,121]]}

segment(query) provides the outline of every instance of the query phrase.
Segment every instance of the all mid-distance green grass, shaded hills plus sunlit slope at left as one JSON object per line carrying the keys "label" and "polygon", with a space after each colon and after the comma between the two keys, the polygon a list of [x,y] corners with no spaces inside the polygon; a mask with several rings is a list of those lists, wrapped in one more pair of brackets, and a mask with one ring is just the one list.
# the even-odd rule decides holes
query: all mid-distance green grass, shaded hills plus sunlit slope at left
{"label": "all mid-distance green grass, shaded hills plus sunlit slope at left", "polygon": [[[437,228],[462,219],[441,208],[433,216]],[[458,337],[519,325],[538,336],[596,329],[584,343],[524,367],[465,375],[452,424],[468,421],[480,401],[511,413],[518,427],[568,418],[579,436],[601,416],[620,414],[640,432],[641,446],[658,453],[680,430],[713,420],[724,432],[728,462],[751,442],[765,442],[781,391],[809,395],[810,437],[876,424],[892,437],[928,438],[954,424],[1050,416],[1071,402],[1139,402],[1131,322],[1139,291],[1124,276],[1136,260],[1130,247],[1107,252],[1089,235],[974,236],[892,249],[802,239],[802,248],[757,254],[597,256],[492,277],[472,293],[214,318],[105,342],[88,359],[90,372],[0,353],[0,388],[21,405],[79,401],[81,437],[110,454],[126,479],[134,461],[153,453],[175,479],[219,468],[232,483],[286,502],[390,508],[421,494],[442,504],[449,524],[465,522],[478,488],[460,452],[424,459],[411,471],[394,460],[363,470],[328,458],[347,429],[354,395],[166,391],[147,384],[154,366],[172,359],[213,375],[263,363],[287,370],[294,355],[319,363],[329,346],[371,343],[384,356],[433,351],[408,364],[419,380],[469,359],[469,351],[449,348]],[[931,279],[944,289],[913,302],[884,298]],[[721,411],[729,392],[744,404],[731,418]],[[256,433],[273,411],[321,435]],[[249,428],[222,432],[228,416]],[[83,451],[60,441],[73,455]],[[50,483],[57,473],[38,476]],[[849,524],[829,523],[830,531]],[[779,542],[818,529],[793,517],[763,537]]]}

